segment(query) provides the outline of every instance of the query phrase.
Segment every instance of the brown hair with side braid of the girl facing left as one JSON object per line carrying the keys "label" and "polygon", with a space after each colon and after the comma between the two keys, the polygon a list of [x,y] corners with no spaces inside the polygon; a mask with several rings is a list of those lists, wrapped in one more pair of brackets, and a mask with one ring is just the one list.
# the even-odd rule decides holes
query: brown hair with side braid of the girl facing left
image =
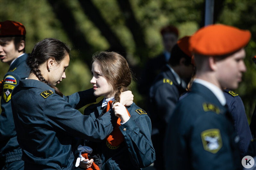
{"label": "brown hair with side braid of the girl facing left", "polygon": [[120,102],[120,94],[128,90],[132,82],[132,72],[126,59],[116,52],[99,51],[93,54],[92,62],[98,61],[103,76],[112,84],[115,102]]}

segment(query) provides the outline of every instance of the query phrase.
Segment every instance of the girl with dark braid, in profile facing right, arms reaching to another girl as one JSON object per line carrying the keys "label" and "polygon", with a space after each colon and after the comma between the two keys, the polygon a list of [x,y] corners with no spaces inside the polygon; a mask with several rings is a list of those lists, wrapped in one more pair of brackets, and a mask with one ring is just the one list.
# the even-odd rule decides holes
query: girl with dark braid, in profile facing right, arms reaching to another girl
{"label": "girl with dark braid, in profile facing right, arms reaching to another girl", "polygon": [[[37,43],[27,58],[31,72],[12,93],[12,110],[24,169],[72,169],[78,138],[100,141],[113,130],[112,109],[99,119],[77,109],[95,102],[93,89],[63,96],[55,86],[66,78],[69,47],[56,39]],[[132,104],[132,94],[122,102]],[[128,97],[128,99],[127,99]]]}

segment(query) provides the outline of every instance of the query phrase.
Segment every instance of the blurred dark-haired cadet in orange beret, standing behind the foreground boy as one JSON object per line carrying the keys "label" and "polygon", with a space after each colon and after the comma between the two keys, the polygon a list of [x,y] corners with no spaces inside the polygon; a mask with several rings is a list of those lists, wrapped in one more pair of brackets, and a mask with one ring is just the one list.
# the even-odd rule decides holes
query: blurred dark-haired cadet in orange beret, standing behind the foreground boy
{"label": "blurred dark-haired cadet in orange beret, standing behind the foreground boy", "polygon": [[151,139],[156,151],[154,166],[157,170],[165,169],[163,144],[168,120],[194,72],[188,41],[189,36],[185,36],[174,45],[168,64],[158,74],[149,90],[148,114],[152,123]]}

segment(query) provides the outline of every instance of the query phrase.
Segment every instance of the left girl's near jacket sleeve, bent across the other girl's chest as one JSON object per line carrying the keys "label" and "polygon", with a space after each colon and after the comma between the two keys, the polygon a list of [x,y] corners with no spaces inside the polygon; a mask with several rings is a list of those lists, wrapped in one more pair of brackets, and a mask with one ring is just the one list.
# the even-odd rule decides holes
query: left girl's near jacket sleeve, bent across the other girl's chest
{"label": "left girl's near jacket sleeve, bent across the other girl's chest", "polygon": [[[99,141],[107,137],[116,122],[112,109],[99,119],[82,115],[64,98],[53,94],[45,99],[44,120],[55,130],[91,141]],[[113,125],[112,125],[113,123]]]}

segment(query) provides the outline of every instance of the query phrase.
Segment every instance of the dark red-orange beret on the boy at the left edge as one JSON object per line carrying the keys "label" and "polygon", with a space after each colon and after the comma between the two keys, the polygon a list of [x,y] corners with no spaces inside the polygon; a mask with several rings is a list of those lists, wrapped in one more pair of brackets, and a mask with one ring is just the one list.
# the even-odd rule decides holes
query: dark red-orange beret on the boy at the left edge
{"label": "dark red-orange beret on the boy at the left edge", "polygon": [[16,21],[6,20],[0,22],[0,37],[25,36],[25,27]]}

